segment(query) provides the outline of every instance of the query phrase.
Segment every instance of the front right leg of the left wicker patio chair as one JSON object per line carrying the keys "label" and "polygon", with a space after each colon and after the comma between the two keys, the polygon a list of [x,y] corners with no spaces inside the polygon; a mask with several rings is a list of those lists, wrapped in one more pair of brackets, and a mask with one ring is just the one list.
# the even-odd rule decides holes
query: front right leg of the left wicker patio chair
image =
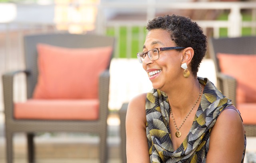
{"label": "front right leg of the left wicker patio chair", "polygon": [[108,162],[108,149],[107,149],[107,137],[106,133],[102,133],[100,135],[100,163],[107,163]]}

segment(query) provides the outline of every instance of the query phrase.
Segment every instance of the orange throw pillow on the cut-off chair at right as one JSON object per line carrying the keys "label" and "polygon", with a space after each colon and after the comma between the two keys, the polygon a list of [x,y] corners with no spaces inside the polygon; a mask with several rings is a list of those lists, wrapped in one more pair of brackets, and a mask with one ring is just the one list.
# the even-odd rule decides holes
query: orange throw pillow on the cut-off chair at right
{"label": "orange throw pillow on the cut-off chair at right", "polygon": [[256,55],[218,53],[220,70],[237,80],[237,103],[256,102]]}

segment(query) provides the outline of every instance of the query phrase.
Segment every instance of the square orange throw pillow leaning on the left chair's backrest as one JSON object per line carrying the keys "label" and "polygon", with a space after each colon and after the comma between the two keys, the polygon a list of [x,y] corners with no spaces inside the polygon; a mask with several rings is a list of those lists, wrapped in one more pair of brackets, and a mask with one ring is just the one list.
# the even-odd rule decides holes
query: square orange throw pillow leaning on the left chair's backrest
{"label": "square orange throw pillow leaning on the left chair's backrest", "polygon": [[38,44],[35,99],[98,98],[98,80],[110,63],[112,47],[62,48]]}

